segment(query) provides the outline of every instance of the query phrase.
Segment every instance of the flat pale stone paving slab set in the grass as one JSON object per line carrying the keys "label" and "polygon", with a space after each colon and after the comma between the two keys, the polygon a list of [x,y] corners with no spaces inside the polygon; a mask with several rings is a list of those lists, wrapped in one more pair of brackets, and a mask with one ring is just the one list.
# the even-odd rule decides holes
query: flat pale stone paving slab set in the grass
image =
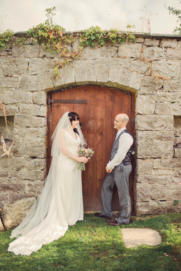
{"label": "flat pale stone paving slab set in the grass", "polygon": [[161,236],[156,230],[127,228],[121,231],[126,247],[136,247],[141,244],[156,246],[161,243]]}

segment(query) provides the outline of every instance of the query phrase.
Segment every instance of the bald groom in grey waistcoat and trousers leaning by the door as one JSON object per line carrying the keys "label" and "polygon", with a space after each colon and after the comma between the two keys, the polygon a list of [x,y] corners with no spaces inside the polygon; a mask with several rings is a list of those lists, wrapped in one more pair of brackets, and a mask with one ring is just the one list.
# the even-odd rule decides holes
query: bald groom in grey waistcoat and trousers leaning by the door
{"label": "bald groom in grey waistcoat and trousers leaning by the door", "polygon": [[130,155],[133,137],[126,130],[129,118],[126,114],[118,114],[114,119],[114,128],[118,130],[112,146],[110,161],[106,166],[107,176],[102,183],[101,199],[102,212],[95,213],[97,217],[112,219],[112,190],[116,184],[118,189],[121,216],[112,226],[128,224],[131,214],[131,201],[129,195],[129,176],[132,170]]}

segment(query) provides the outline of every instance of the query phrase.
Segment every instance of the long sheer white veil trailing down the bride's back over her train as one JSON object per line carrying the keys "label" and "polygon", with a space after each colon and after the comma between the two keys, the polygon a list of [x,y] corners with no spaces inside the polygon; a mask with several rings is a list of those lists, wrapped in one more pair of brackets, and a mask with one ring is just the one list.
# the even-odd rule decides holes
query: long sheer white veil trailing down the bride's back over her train
{"label": "long sheer white veil trailing down the bride's back over her train", "polygon": [[[17,239],[9,244],[8,251],[13,251],[16,255],[29,255],[33,251],[37,251],[43,244],[48,244],[63,236],[68,228],[65,211],[56,189],[57,182],[60,181],[57,176],[57,160],[60,149],[65,144],[62,143],[60,130],[64,129],[70,134],[74,133],[68,113],[65,112],[61,117],[51,138],[53,141],[52,161],[44,188],[20,225],[11,233],[10,238],[16,237]],[[86,142],[79,125],[77,130],[81,139],[81,147],[85,146]]]}

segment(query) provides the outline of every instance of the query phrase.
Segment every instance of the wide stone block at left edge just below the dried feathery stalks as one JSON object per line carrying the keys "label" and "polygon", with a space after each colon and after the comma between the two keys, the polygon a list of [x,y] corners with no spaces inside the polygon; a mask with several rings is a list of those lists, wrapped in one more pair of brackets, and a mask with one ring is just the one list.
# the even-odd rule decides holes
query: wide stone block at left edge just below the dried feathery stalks
{"label": "wide stone block at left edge just below the dried feathery stalks", "polygon": [[24,157],[12,156],[8,158],[3,156],[0,158],[0,170],[18,170],[24,163]]}

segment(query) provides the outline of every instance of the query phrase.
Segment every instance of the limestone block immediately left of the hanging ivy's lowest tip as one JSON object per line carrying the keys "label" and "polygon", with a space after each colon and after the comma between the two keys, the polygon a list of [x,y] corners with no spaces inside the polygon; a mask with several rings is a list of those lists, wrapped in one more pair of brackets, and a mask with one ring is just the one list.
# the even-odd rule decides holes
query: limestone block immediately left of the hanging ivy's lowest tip
{"label": "limestone block immediately left of the hanging ivy's lowest tip", "polygon": [[49,60],[48,58],[31,58],[29,60],[29,73],[37,74],[44,73],[53,69],[54,61]]}

